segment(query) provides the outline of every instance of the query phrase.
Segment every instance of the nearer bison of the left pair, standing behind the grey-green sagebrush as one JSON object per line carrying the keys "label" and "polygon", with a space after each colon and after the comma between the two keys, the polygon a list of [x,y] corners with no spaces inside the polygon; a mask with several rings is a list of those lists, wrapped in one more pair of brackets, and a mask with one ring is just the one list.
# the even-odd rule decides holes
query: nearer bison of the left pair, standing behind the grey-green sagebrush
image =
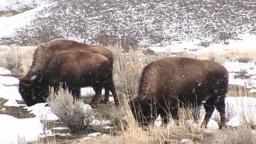
{"label": "nearer bison of the left pair, standing behind the grey-green sagebrush", "polygon": [[[49,86],[55,90],[60,83],[68,87],[74,98],[80,97],[80,88],[91,86],[95,90],[92,107],[96,108],[103,87],[108,88],[114,96],[115,104],[119,105],[115,92],[111,63],[108,58],[92,52],[61,51],[52,53],[45,63],[31,66],[34,73],[27,73],[20,79],[19,92],[28,106],[42,103],[49,95]],[[65,88],[63,86],[63,88]]]}

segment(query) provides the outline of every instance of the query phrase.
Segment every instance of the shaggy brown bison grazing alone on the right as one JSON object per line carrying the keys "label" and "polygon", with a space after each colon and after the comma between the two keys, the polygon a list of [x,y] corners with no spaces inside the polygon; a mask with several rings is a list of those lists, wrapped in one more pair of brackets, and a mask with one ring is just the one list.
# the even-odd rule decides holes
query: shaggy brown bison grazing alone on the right
{"label": "shaggy brown bison grazing alone on the right", "polygon": [[[205,127],[214,107],[220,113],[220,128],[225,127],[225,95],[228,71],[219,63],[193,58],[166,57],[148,64],[142,72],[136,98],[129,104],[133,116],[141,124],[159,114],[167,119],[177,117],[178,104],[203,104]],[[167,122],[167,121],[164,121]]]}

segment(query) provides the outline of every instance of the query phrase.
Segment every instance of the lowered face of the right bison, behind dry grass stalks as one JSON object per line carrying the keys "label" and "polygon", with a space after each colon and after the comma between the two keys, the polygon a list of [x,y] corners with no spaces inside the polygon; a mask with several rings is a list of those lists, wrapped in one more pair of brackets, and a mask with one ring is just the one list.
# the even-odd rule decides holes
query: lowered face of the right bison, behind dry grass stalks
{"label": "lowered face of the right bison, behind dry grass stalks", "polygon": [[129,102],[133,117],[140,125],[148,125],[155,120],[157,116],[157,102],[150,99],[135,98]]}

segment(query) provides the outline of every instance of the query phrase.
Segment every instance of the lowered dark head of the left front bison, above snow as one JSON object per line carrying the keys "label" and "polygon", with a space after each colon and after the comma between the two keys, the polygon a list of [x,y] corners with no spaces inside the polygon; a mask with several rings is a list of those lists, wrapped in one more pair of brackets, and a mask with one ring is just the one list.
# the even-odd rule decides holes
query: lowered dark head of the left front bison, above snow
{"label": "lowered dark head of the left front bison, above snow", "polygon": [[[33,78],[33,76],[32,76]],[[48,89],[43,85],[42,80],[25,79],[22,77],[19,82],[19,93],[28,106],[45,102],[48,96]]]}

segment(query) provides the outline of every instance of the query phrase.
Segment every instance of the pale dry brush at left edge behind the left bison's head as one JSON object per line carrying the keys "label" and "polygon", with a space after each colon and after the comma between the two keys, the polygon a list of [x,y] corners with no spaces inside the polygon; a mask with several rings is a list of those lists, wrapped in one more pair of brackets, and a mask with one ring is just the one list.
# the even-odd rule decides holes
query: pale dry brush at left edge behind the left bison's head
{"label": "pale dry brush at left edge behind the left bison's head", "polygon": [[32,57],[33,50],[31,49],[26,51],[21,50],[20,47],[9,47],[8,50],[1,53],[0,65],[13,73],[26,74]]}

